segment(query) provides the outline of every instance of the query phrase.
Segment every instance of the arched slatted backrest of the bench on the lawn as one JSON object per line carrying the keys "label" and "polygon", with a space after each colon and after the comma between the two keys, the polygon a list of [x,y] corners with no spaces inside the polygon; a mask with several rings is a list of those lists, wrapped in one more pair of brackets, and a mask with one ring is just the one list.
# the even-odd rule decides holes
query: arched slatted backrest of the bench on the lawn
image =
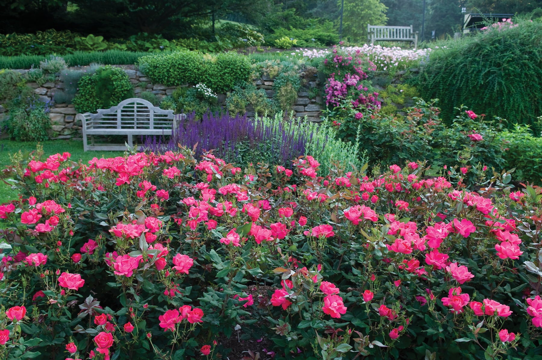
{"label": "arched slatted backrest of the bench on the lawn", "polygon": [[94,129],[171,129],[173,124],[173,110],[162,110],[139,98],[122,100],[117,106],[86,115],[87,128]]}

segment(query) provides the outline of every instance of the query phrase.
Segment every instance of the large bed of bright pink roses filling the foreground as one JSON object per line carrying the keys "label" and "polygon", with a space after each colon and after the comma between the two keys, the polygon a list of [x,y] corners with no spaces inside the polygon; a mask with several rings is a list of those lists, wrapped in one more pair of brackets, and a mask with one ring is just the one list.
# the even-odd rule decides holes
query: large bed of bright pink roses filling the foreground
{"label": "large bed of bright pink roses filling the foreground", "polygon": [[539,188],[319,166],[19,159],[5,174],[21,199],[0,205],[0,357],[538,356]]}

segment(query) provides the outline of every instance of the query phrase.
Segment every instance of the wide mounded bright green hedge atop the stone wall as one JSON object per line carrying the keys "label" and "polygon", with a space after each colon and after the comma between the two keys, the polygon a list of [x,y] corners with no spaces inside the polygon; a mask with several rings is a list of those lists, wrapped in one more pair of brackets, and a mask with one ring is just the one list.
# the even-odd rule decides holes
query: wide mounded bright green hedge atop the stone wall
{"label": "wide mounded bright green hedge atop the stone wall", "polygon": [[179,86],[204,83],[213,91],[225,93],[250,79],[250,60],[236,53],[217,55],[176,52],[148,55],[138,61],[140,70],[153,83]]}

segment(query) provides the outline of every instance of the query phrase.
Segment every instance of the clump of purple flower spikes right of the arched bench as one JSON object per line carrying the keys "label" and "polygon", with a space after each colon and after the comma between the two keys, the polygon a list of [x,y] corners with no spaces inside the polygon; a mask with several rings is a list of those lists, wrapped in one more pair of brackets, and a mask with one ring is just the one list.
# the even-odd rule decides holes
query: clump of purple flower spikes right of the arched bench
{"label": "clump of purple flower spikes right of the arched bench", "polygon": [[195,113],[177,115],[178,129],[170,137],[148,136],[144,139],[147,151],[163,153],[178,150],[178,145],[192,149],[195,156],[204,151],[227,162],[246,164],[268,162],[291,166],[291,160],[305,155],[306,145],[312,139],[314,127],[301,126],[298,120],[274,118],[248,119],[246,115],[207,113],[201,120]]}

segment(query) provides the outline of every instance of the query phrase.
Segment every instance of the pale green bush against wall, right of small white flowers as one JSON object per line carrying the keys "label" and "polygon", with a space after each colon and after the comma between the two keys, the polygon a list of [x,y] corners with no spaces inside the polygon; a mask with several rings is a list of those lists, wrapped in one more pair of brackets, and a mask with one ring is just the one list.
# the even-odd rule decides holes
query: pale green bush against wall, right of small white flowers
{"label": "pale green bush against wall, right of small white flowers", "polygon": [[244,86],[235,86],[226,97],[226,106],[231,114],[244,114],[248,105],[254,108],[258,115],[270,113],[272,104],[264,89],[256,89],[251,83]]}

